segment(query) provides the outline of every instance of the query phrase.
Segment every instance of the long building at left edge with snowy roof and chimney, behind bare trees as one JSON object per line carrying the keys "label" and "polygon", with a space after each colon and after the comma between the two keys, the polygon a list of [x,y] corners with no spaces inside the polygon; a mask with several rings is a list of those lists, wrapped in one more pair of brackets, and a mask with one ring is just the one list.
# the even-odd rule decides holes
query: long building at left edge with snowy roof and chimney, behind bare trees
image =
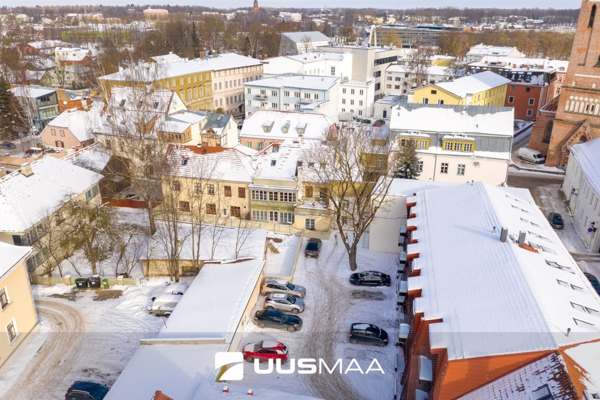
{"label": "long building at left edge with snowy roof and chimney, behind bare trees", "polygon": [[48,226],[60,223],[65,201],[100,203],[98,182],[102,178],[53,157],[22,164],[20,170],[0,178],[0,212],[4,215],[0,242],[34,246],[36,251],[25,262],[29,272],[47,270],[52,266],[43,251],[49,245],[44,237]]}

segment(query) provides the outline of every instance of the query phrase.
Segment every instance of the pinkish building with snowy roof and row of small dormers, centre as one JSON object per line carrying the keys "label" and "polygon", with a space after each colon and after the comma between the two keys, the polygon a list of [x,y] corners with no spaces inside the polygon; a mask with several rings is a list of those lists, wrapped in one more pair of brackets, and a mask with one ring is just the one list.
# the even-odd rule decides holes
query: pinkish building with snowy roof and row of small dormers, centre
{"label": "pinkish building with snowy roof and row of small dormers, centre", "polygon": [[337,131],[334,120],[323,114],[256,110],[242,125],[240,143],[262,150],[286,140],[322,140]]}

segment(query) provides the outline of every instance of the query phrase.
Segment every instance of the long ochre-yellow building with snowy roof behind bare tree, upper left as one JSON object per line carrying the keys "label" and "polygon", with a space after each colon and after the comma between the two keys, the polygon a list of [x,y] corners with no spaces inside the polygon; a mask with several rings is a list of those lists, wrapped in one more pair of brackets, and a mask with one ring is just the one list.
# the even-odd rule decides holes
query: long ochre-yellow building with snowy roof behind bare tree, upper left
{"label": "long ochre-yellow building with snowy roof behind bare tree, upper left", "polygon": [[98,78],[103,94],[112,86],[152,86],[175,91],[188,110],[212,111],[212,71],[187,58],[181,61],[144,62],[140,67],[127,68]]}

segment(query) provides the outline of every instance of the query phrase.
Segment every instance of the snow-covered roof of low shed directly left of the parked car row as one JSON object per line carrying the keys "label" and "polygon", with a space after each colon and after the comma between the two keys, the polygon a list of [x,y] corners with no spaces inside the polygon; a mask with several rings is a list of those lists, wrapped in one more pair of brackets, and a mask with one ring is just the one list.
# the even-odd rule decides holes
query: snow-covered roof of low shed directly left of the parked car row
{"label": "snow-covered roof of low shed directly left of the parked car row", "polygon": [[157,339],[220,338],[230,343],[264,264],[262,259],[204,264]]}

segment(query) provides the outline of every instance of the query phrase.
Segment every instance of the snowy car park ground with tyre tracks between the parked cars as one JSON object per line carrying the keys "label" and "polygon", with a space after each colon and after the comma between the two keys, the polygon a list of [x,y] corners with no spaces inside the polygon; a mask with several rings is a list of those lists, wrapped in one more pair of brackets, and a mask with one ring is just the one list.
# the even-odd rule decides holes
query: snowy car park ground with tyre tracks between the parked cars
{"label": "snowy car park ground with tyre tracks between the parked cars", "polygon": [[[302,246],[305,245],[305,239]],[[361,270],[380,270],[392,275],[392,286],[365,288],[350,285],[347,254],[341,240],[323,241],[319,258],[300,257],[294,283],[307,288],[304,299],[306,309],[299,314],[303,320],[302,330],[289,333],[272,328],[260,329],[251,321],[245,326],[242,346],[248,342],[271,339],[284,342],[294,358],[322,358],[328,365],[343,359],[344,369],[350,360],[356,359],[366,370],[376,358],[385,375],[371,372],[340,374],[256,374],[251,365],[246,365],[244,380],[237,381],[247,387],[262,387],[285,392],[334,399],[385,399],[393,398],[396,357],[401,350],[395,347],[393,338],[397,327],[398,312],[395,309],[395,271],[397,255],[369,252],[359,248],[358,264]],[[260,296],[254,311],[261,309]],[[348,341],[350,324],[373,323],[386,330],[391,344],[385,348],[374,345],[356,344]],[[400,366],[400,371],[403,366]],[[284,367],[285,368],[285,367]]]}

